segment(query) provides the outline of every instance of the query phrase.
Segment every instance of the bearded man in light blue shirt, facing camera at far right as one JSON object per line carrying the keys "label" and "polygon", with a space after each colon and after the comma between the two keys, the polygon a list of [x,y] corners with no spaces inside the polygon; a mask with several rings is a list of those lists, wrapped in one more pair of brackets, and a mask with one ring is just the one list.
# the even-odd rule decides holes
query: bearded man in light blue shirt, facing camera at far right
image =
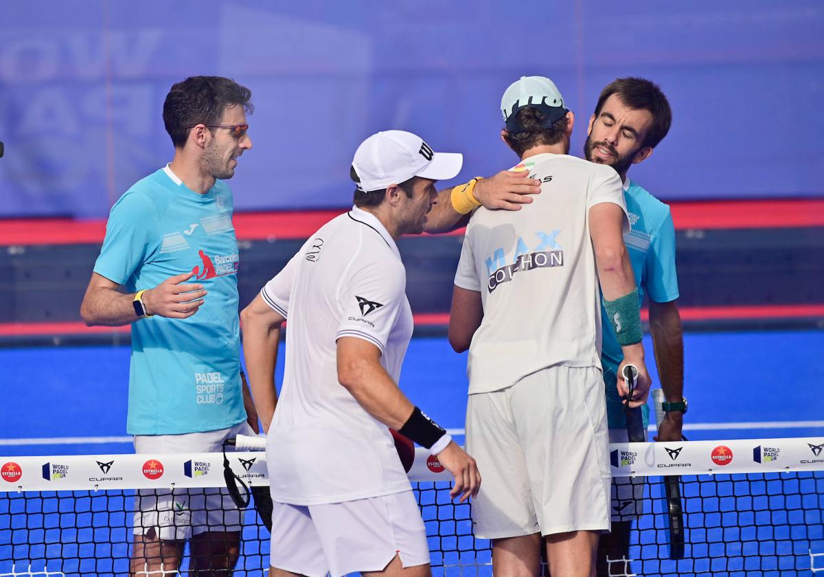
{"label": "bearded man in light blue shirt, facing camera at far right", "polygon": [[[658,441],[680,441],[683,398],[683,339],[678,312],[678,280],[675,267],[675,228],[667,204],[650,195],[626,176],[633,164],[653,153],[672,124],[672,111],[661,89],[643,78],[618,78],[598,97],[589,120],[584,154],[588,161],[613,167],[624,183],[624,199],[632,230],[624,242],[630,253],[639,299],[649,299],[649,326],[661,387],[667,402],[666,416],[658,428]],[[621,349],[602,310],[602,367],[606,386],[606,408],[613,442],[626,441],[624,405],[616,390]],[[643,406],[644,427],[649,408]],[[642,514],[644,486],[631,478],[616,477],[612,486],[612,530],[602,537],[597,556],[598,575],[616,575],[608,569],[611,560],[629,558],[630,529]],[[629,564],[627,564],[629,565]],[[618,568],[630,575],[630,567]],[[623,575],[623,573],[621,573]]]}

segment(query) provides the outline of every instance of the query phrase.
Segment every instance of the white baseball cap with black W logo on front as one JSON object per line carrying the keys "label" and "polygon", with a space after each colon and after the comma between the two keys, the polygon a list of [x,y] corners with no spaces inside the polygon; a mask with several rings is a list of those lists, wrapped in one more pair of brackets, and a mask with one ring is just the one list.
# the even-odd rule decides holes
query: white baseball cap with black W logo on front
{"label": "white baseball cap with black W logo on front", "polygon": [[372,134],[355,151],[352,167],[358,190],[370,192],[400,185],[413,176],[446,181],[461,171],[463,155],[433,152],[423,138],[404,130]]}

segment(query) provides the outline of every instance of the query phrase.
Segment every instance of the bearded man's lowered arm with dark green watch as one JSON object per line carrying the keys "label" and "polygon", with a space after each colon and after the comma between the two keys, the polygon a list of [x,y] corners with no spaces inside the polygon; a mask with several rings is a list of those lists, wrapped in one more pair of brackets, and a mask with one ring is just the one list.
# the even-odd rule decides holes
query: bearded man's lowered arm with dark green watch
{"label": "bearded man's lowered arm with dark green watch", "polygon": [[[655,364],[664,397],[669,402],[680,402],[684,396],[684,338],[677,301],[649,301],[649,332],[653,336]],[[658,427],[656,439],[680,441],[683,416],[680,410],[667,413]]]}

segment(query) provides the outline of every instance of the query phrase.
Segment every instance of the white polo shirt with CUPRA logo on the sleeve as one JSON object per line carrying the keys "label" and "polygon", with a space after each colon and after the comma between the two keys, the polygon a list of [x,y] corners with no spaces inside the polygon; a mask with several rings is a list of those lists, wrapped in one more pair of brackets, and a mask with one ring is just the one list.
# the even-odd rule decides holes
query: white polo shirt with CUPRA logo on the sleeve
{"label": "white polo shirt with CUPRA logo on the sleeve", "polygon": [[381,349],[400,378],[413,321],[395,241],[372,213],[353,208],[326,223],[260,292],[288,318],[286,371],[269,427],[274,500],[325,504],[410,490],[389,429],[340,385],[336,342]]}

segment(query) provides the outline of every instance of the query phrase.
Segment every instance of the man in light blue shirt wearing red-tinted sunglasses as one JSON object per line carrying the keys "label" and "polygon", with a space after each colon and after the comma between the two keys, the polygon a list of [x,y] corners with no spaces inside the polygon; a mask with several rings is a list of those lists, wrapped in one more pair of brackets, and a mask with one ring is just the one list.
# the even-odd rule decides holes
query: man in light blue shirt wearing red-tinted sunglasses
{"label": "man in light blue shirt wearing red-tinted sunglasses", "polygon": [[[222,182],[252,147],[250,97],[223,77],[171,87],[163,120],[175,156],[112,207],[83,298],[88,325],[131,324],[127,430],[137,453],[152,453],[147,476],[162,471],[162,453],[219,451],[257,430],[240,371],[238,250]],[[141,491],[137,508],[133,574],[179,568],[190,538],[190,570],[231,572],[241,526],[225,491]]]}

